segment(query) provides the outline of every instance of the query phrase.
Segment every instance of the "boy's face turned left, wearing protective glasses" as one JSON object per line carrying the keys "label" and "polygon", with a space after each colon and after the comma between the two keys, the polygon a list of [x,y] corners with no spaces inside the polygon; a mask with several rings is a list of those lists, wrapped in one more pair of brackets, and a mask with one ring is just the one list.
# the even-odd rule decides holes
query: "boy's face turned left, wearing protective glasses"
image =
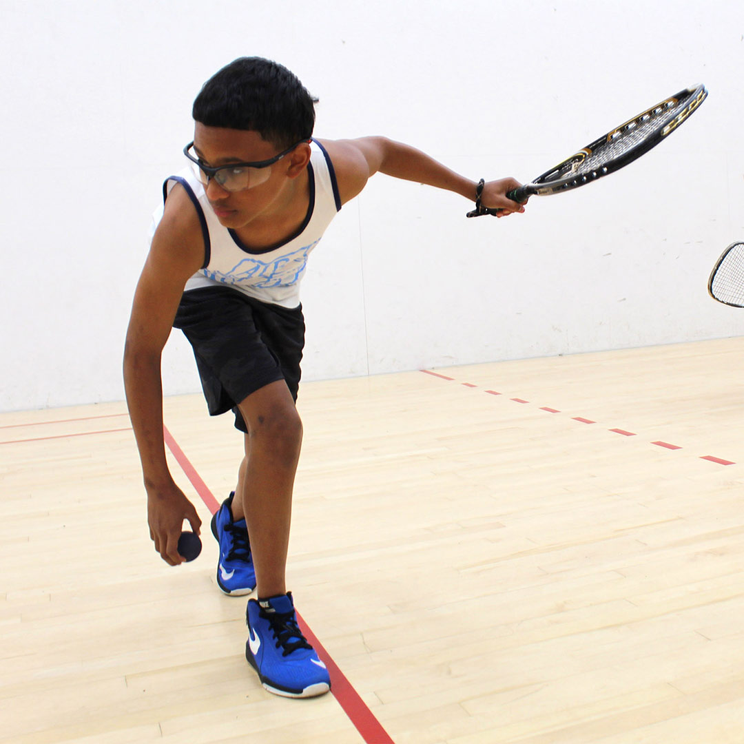
{"label": "boy's face turned left, wearing protective glasses", "polygon": [[[205,126],[199,122],[196,122],[193,140],[193,151],[211,167],[269,160],[281,151],[258,132]],[[304,171],[309,158],[310,147],[298,145],[291,153],[261,169],[267,172],[267,177],[246,190],[228,191],[216,179],[209,179],[205,191],[220,224],[237,230],[257,217],[271,217],[280,211],[289,196],[288,186]]]}

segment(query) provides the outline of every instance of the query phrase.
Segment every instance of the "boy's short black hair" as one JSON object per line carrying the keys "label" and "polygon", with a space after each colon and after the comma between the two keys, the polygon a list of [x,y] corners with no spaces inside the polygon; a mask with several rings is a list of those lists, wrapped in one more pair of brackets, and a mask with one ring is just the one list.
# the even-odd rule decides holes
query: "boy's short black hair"
{"label": "boy's short black hair", "polygon": [[315,100],[278,62],[240,57],[202,86],[192,115],[205,126],[252,129],[284,149],[312,136]]}

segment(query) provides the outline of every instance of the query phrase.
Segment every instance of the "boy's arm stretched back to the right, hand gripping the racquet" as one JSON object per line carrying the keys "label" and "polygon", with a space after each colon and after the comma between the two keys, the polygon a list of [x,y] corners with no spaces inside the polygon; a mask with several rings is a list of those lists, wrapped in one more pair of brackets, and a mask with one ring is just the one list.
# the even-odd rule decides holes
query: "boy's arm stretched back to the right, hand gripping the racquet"
{"label": "boy's arm stretched back to the right, hand gripping the racquet", "polygon": [[[385,137],[323,141],[322,144],[333,160],[341,203],[353,199],[374,173],[454,191],[475,202],[477,182],[455,173],[410,145]],[[487,182],[481,204],[500,208],[504,215],[523,212],[522,205],[506,197],[508,191],[518,186],[521,186],[519,181],[512,178]]]}

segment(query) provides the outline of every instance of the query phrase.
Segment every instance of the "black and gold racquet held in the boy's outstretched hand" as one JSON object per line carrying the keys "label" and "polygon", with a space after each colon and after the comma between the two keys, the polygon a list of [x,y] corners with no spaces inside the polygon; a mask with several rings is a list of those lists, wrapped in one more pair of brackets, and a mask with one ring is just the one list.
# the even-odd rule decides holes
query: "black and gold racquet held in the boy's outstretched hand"
{"label": "black and gold racquet held in the boy's outstretched hand", "polygon": [[[675,93],[625,124],[616,126],[542,176],[537,176],[533,182],[511,190],[507,197],[524,204],[530,196],[568,191],[596,181],[608,173],[615,173],[667,138],[698,108],[707,95],[708,91],[702,85]],[[484,214],[499,213],[498,209],[481,206],[478,196],[475,209],[468,212],[467,216],[481,217]]]}

